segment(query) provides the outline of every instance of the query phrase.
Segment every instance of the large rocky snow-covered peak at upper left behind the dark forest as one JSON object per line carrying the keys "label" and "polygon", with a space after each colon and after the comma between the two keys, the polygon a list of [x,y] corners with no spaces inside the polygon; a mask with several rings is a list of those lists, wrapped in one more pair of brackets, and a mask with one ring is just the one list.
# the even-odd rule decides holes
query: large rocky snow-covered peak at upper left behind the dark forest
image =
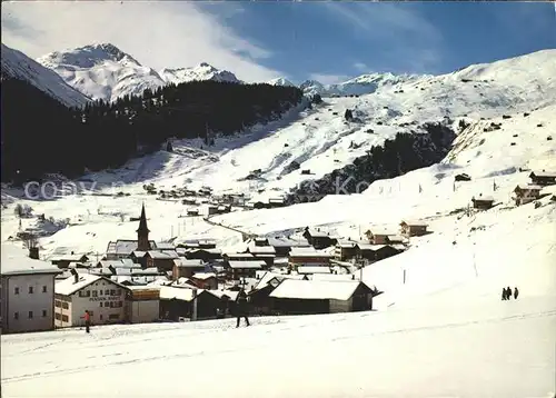
{"label": "large rocky snow-covered peak at upper left behind the dark forest", "polygon": [[52,69],[76,90],[97,100],[111,100],[165,84],[151,68],[141,66],[131,56],[110,43],[96,43],[56,51],[37,59]]}

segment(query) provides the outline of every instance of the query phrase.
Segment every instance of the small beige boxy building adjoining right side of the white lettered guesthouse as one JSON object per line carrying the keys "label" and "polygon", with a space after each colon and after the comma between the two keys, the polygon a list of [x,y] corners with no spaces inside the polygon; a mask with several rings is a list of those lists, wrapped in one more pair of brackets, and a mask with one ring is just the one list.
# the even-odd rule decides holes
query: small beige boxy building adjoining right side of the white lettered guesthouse
{"label": "small beige boxy building adjoining right side of the white lettered guesthouse", "polygon": [[131,324],[156,322],[160,319],[160,286],[128,286],[127,320]]}

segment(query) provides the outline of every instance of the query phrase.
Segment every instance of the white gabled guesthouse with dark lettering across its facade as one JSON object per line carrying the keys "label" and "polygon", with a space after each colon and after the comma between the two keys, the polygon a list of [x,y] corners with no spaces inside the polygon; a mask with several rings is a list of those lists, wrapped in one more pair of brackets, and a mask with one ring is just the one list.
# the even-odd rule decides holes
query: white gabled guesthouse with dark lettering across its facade
{"label": "white gabled guesthouse with dark lettering across its facade", "polygon": [[129,321],[126,300],[129,289],[99,275],[72,275],[56,283],[54,325],[57,328],[83,326],[89,310],[92,325]]}

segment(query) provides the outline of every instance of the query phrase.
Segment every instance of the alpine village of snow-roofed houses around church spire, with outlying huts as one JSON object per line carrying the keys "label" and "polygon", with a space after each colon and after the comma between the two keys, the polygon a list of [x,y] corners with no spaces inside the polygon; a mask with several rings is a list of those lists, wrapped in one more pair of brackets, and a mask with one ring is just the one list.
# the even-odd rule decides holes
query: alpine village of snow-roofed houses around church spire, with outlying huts
{"label": "alpine village of snow-roofed houses around church spire, with outlying huts", "polygon": [[[544,196],[544,187],[556,185],[555,173],[532,172],[529,179],[530,183],[515,188],[515,206],[534,202]],[[210,188],[203,187],[200,195],[210,198]],[[242,196],[206,202],[208,222],[210,216],[246,206]],[[256,208],[274,206],[284,203],[269,200]],[[486,211],[493,206],[493,198],[479,195],[467,210]],[[423,220],[399,220],[396,229],[371,226],[356,239],[311,227],[290,236],[242,232],[244,248],[229,252],[215,239],[149,239],[147,210],[143,205],[140,217],[133,219],[137,239],[108,242],[100,259],[56,252],[47,262],[40,260],[39,247],[29,245],[24,263],[16,265],[21,260],[2,250],[2,334],[82,327],[86,311],[93,326],[234,317],[240,290],[248,295],[250,316],[373,310],[373,298],[383,291],[363,280],[363,268],[410,249],[415,238],[434,233]],[[187,213],[200,217],[196,208]]]}

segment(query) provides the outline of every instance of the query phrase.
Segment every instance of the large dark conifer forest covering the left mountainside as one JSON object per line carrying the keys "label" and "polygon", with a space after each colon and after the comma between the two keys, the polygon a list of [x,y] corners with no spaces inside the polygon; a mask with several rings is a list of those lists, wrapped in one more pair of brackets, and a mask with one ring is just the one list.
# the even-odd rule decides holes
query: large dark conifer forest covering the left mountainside
{"label": "large dark conifer forest covering the left mountainside", "polygon": [[172,137],[230,136],[302,99],[294,87],[193,81],[70,109],[23,80],[2,78],[1,91],[1,178],[17,183],[119,167]]}

